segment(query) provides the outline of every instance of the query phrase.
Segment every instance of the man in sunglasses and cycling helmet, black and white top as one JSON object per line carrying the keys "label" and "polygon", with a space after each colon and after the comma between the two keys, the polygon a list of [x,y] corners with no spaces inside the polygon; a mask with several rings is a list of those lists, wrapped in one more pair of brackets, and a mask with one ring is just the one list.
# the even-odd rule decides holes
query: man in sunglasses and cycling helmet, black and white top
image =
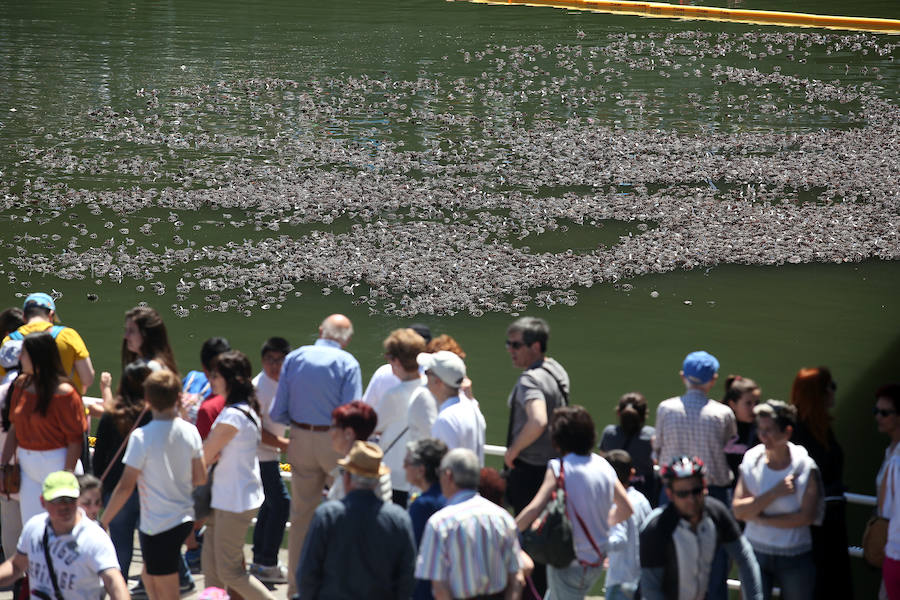
{"label": "man in sunglasses and cycling helmet, black and white top", "polygon": [[640,534],[641,597],[702,600],[719,547],[737,563],[745,600],[762,600],[759,565],[728,508],[707,496],[706,468],[679,456],[662,468],[669,504],[654,510]]}

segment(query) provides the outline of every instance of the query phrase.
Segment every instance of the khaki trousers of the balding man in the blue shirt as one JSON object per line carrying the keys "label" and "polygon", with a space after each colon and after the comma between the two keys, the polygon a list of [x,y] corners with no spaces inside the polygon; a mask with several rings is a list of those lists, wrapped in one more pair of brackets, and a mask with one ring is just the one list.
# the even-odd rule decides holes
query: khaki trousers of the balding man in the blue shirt
{"label": "khaki trousers of the balding man in the blue shirt", "polygon": [[306,532],[322,502],[325,480],[343,458],[331,448],[327,431],[291,428],[287,459],[291,463],[291,529],[288,535],[288,598],[297,593],[296,573]]}

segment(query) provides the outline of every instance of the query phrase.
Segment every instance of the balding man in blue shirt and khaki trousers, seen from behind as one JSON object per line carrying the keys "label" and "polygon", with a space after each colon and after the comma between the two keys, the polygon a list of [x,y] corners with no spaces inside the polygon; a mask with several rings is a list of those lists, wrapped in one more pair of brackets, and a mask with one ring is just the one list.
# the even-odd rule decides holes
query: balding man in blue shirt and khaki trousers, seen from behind
{"label": "balding man in blue shirt and khaki trousers, seen from behind", "polygon": [[297,591],[294,569],[313,512],[322,500],[327,475],[341,456],[331,447],[331,411],[362,397],[359,363],[344,350],[353,324],[331,315],[319,326],[319,339],[287,355],[269,416],[291,426],[291,529],[288,538],[288,597]]}

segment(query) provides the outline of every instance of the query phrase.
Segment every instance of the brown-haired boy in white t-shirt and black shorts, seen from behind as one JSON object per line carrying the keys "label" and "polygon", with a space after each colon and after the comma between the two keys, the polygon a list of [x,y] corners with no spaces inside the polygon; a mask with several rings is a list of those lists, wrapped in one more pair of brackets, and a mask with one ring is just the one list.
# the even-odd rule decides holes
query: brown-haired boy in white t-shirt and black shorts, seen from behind
{"label": "brown-haired boy in white t-shirt and black shorts, seen from behind", "polygon": [[141,579],[151,600],[179,597],[181,545],[194,525],[191,492],[206,481],[200,434],[177,414],[180,395],[181,382],[171,371],[156,371],[144,381],[153,420],[129,436],[125,471],[101,519],[108,527],[140,480]]}

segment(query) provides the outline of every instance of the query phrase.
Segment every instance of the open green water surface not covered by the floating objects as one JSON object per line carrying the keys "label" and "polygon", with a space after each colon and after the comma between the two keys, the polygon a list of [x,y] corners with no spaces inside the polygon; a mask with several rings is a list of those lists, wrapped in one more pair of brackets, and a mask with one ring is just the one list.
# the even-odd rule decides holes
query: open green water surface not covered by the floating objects
{"label": "open green water surface not covered by the floating objects", "polygon": [[[758,0],[727,5],[900,17],[893,0],[866,0],[852,6],[834,0],[789,4]],[[26,148],[47,151],[57,145],[66,146],[67,139],[60,138],[59,132],[74,136],[76,152],[79,147],[86,148],[98,160],[158,159],[164,155],[165,147],[103,143],[81,137],[90,130],[86,115],[92,109],[110,106],[116,111],[142,110],[147,99],[135,94],[141,89],[160,90],[161,98],[171,100],[179,96],[177,88],[214,87],[220,81],[282,78],[305,85],[333,78],[337,86],[326,85],[323,93],[337,101],[343,93],[340,86],[348,78],[390,78],[401,82],[424,78],[451,88],[454,79],[478,78],[490,68],[484,60],[469,62],[465,57],[468,52],[475,55],[489,46],[542,44],[552,49],[556,44],[602,45],[613,34],[632,33],[646,38],[655,33],[690,31],[740,35],[748,31],[797,30],[440,0],[225,4],[183,0],[0,1],[0,183],[5,184],[0,189],[18,194],[26,179],[36,177],[45,178],[48,186],[65,186],[63,191],[167,185],[166,181],[151,184],[140,175],[115,171],[108,168],[109,162],[92,175],[61,169],[45,171],[38,163],[24,159]],[[766,68],[777,66],[785,73],[810,78],[839,76],[847,85],[874,82],[875,96],[896,102],[900,89],[896,50],[886,56],[873,56],[851,46],[828,53],[812,48],[802,61],[778,58],[770,60]],[[799,50],[797,53],[799,57]],[[736,56],[723,60],[723,64],[752,68],[758,64],[755,61]],[[553,57],[547,59],[543,68],[549,73],[544,79],[562,73],[557,72],[559,67]],[[876,79],[876,73],[880,79]],[[661,81],[646,71],[635,70],[626,71],[605,85],[611,98],[616,93],[623,94],[623,102],[603,104],[591,109],[591,114],[604,125],[628,131],[660,128],[690,133],[806,132],[856,125],[852,117],[808,114],[786,118],[752,108],[739,109],[732,106],[739,104],[738,100],[723,100],[712,109],[699,107],[691,94],[712,93],[713,88],[705,79],[672,77]],[[738,93],[735,92],[735,98]],[[629,104],[630,100],[638,102],[640,110],[637,104]],[[198,130],[202,125],[220,134],[247,135],[258,131],[298,139],[312,136],[376,144],[402,142],[409,150],[431,147],[434,140],[443,140],[445,145],[447,140],[465,141],[472,135],[472,130],[464,126],[392,120],[388,108],[372,110],[350,103],[338,107],[334,115],[310,119],[297,106],[285,106],[271,118],[253,114],[255,109],[246,107],[216,117],[214,107],[210,107],[198,119]],[[460,97],[442,100],[436,106],[460,116],[493,115],[501,121],[516,118],[513,109],[503,101],[491,105]],[[523,106],[522,119],[526,120],[531,118],[529,110],[542,110],[538,102]],[[578,111],[584,109],[551,106],[547,110],[553,113],[552,118],[565,119],[582,115]],[[189,118],[190,115],[186,117]],[[193,149],[179,150],[177,159],[179,165],[189,168],[191,164],[224,163],[230,156],[227,151]],[[266,155],[260,151],[251,158],[259,162]],[[515,184],[506,189],[527,187]],[[537,190],[536,197],[566,193],[578,196],[592,191],[589,185],[564,186]],[[802,193],[807,196],[801,200],[815,199],[815,190]],[[896,202],[894,206],[896,209]],[[83,223],[87,230],[99,231],[95,242],[99,244],[105,239],[104,222],[109,221],[115,229],[136,230],[149,217],[161,218],[162,224],[154,230],[156,237],[139,239],[139,246],[153,239],[161,244],[171,243],[169,238],[178,233],[199,245],[213,246],[273,235],[249,224],[231,225],[233,219],[245,217],[237,209],[227,211],[231,215],[228,217],[223,216],[222,210],[176,211],[185,222],[184,228],[178,230],[166,225],[168,209],[149,208],[122,215],[104,208],[101,214],[93,215],[86,207],[75,205],[66,208],[62,217],[42,225],[37,220],[26,224],[13,219],[19,208],[0,211],[4,240],[26,232],[40,235],[50,229],[51,233],[62,234],[62,244],[72,234],[57,226],[60,220],[67,219],[72,224]],[[402,221],[407,209],[400,207],[384,218]],[[503,214],[502,210],[494,212]],[[896,216],[895,210],[894,224]],[[354,217],[343,216],[330,224],[286,226],[281,233],[346,233],[358,222]],[[656,226],[651,220],[643,222],[651,231]],[[576,254],[586,254],[598,247],[614,246],[620,236],[639,234],[637,221],[612,219],[599,228],[561,223],[570,227],[567,234],[532,232],[522,239],[512,235],[508,241],[517,248],[527,246],[535,253],[571,248]],[[196,233],[185,233],[191,232],[194,225],[202,227]],[[81,241],[82,247],[90,243],[86,238]],[[200,308],[191,310],[188,318],[179,319],[170,309],[176,303],[171,291],[178,280],[174,274],[158,277],[170,290],[165,296],[153,293],[149,280],[126,278],[121,284],[109,279],[97,284],[91,277],[61,280],[9,267],[10,257],[17,254],[15,245],[6,244],[0,249],[0,256],[7,261],[6,276],[16,274],[15,281],[5,281],[0,288],[0,303],[18,304],[28,289],[52,288],[61,292],[59,313],[65,323],[81,332],[98,373],[109,370],[116,374],[122,314],[140,301],[159,308],[166,318],[183,371],[198,366],[199,346],[211,335],[225,335],[233,346],[256,358],[257,348],[266,337],[278,334],[295,345],[309,343],[315,338],[322,317],[344,312],[353,319],[357,330],[349,350],[359,358],[364,378],[368,379],[381,362],[381,340],[391,329],[411,322],[381,313],[370,316],[368,307],[352,303],[352,296],[323,296],[322,285],[317,282],[298,284],[296,289],[302,295],[288,295],[279,303],[281,308],[254,307],[250,317],[237,311],[209,313]],[[24,285],[25,282],[30,285]],[[626,291],[623,283],[631,289]],[[137,285],[144,285],[145,291],[137,291]],[[363,284],[355,293],[360,294],[365,288]],[[756,379],[766,397],[786,398],[798,368],[828,365],[839,382],[835,427],[847,452],[847,482],[854,491],[874,492],[874,474],[886,441],[878,439],[869,409],[875,387],[900,379],[900,263],[870,259],[846,264],[718,265],[645,275],[620,281],[619,285],[607,281],[576,291],[575,306],[531,305],[527,314],[549,320],[553,329],[550,353],[569,369],[574,400],[592,410],[598,426],[612,421],[612,407],[624,392],[642,391],[654,406],[679,393],[681,359],[697,348],[716,354],[723,374],[740,373]],[[658,297],[651,297],[653,291],[658,292]],[[97,294],[99,300],[88,301],[88,294]],[[505,400],[516,371],[509,363],[503,340],[512,318],[488,312],[478,318],[457,314],[420,315],[413,319],[427,323],[436,333],[453,335],[468,353],[467,364],[475,395],[487,417],[490,443],[505,441]],[[721,386],[717,387],[714,395],[721,391]],[[97,393],[96,386],[91,392]]]}

